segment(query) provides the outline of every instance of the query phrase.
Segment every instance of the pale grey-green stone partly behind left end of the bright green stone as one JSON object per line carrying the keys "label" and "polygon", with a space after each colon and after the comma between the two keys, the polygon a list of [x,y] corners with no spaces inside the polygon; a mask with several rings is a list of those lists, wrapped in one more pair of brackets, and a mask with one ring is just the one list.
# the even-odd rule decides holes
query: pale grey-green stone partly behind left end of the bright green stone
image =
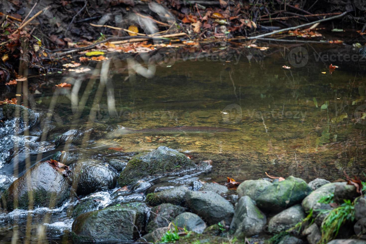
{"label": "pale grey-green stone partly behind left end of the bright green stone", "polygon": [[255,201],[269,185],[272,185],[272,183],[267,180],[246,180],[240,183],[236,192],[239,198],[249,196]]}

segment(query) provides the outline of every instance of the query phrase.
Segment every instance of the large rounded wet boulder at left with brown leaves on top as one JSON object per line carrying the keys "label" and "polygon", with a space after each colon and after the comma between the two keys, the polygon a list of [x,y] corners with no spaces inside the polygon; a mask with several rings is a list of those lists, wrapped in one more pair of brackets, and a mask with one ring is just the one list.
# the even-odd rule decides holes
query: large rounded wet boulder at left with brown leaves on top
{"label": "large rounded wet boulder at left with brown leaves on top", "polygon": [[16,179],[3,192],[2,198],[7,202],[8,210],[28,209],[30,195],[33,196],[33,206],[52,209],[60,206],[69,194],[69,185],[64,175],[53,169],[47,162],[40,162]]}

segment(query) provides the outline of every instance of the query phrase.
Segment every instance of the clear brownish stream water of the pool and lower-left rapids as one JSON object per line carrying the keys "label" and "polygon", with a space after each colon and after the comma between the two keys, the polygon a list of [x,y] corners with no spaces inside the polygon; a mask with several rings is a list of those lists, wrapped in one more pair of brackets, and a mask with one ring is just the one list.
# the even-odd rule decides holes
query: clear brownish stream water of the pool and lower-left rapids
{"label": "clear brownish stream water of the pool and lower-left rapids", "polygon": [[[176,60],[168,64],[170,67],[156,65],[154,75],[148,78],[113,66],[110,75],[102,74],[102,82],[97,78],[95,84],[90,82],[93,73],[55,76],[51,78],[54,83],[67,82],[73,87],[45,89],[46,95],[34,97],[37,112],[51,112],[49,121],[55,127],[43,139],[52,142],[69,129],[94,128],[83,149],[90,157],[105,154],[106,147],[115,148],[118,154],[121,150],[133,153],[168,146],[214,159],[210,173],[170,177],[166,185],[188,185],[199,179],[224,184],[226,177],[244,181],[266,177],[265,172],[282,177],[292,174],[310,181],[317,177],[344,178],[346,170],[351,176],[365,178],[365,72],[351,64],[333,63],[340,68],[330,74],[330,62],[313,59],[304,67],[284,69],[283,65],[291,66],[288,50],[272,50],[267,57],[241,55],[240,60],[232,58],[232,62]],[[74,90],[76,86],[79,91]],[[78,110],[75,105],[83,99],[85,106]],[[115,106],[115,112],[109,112],[108,104]],[[216,135],[134,134],[108,139],[106,131],[117,129],[117,125],[130,129],[211,126],[239,131]],[[50,144],[45,143],[43,151],[63,150]],[[113,154],[111,151],[109,154]],[[52,154],[36,157],[35,153],[30,165]],[[2,160],[5,166],[0,173],[8,173],[7,159]],[[104,199],[101,206],[107,206],[113,191],[97,193]],[[28,231],[31,234],[26,240],[70,242],[72,218],[67,215],[68,206],[70,203],[53,210],[1,213],[3,241],[16,235],[25,240]]]}

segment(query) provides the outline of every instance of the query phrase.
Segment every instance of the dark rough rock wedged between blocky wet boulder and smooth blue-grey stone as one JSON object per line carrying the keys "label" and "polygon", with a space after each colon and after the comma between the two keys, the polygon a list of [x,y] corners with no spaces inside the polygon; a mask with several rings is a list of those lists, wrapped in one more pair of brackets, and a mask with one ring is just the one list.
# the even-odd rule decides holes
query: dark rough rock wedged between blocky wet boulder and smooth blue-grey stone
{"label": "dark rough rock wedged between blocky wet boulder and smooth blue-grey stone", "polygon": [[149,221],[147,221],[146,231],[168,226],[169,223],[179,214],[185,211],[184,207],[163,203],[155,206],[150,211]]}

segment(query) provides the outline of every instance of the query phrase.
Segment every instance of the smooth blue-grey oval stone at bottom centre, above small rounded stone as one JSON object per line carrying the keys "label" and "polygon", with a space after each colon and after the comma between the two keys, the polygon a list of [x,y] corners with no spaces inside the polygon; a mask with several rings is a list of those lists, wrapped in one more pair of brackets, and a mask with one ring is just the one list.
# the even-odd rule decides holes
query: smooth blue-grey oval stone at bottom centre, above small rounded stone
{"label": "smooth blue-grey oval stone at bottom centre, above small rounded stone", "polygon": [[192,212],[205,219],[209,225],[217,224],[234,215],[232,204],[214,192],[187,191],[185,199]]}

